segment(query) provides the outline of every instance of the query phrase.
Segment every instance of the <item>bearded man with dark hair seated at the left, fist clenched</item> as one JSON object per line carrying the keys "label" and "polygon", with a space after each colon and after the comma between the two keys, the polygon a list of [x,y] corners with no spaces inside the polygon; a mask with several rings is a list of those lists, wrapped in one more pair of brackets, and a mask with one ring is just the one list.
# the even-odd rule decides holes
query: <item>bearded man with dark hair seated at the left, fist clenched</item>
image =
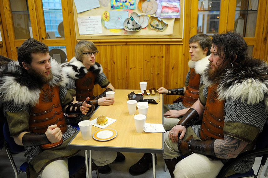
{"label": "bearded man with dark hair seated at the left, fist clenched", "polygon": [[[0,102],[11,136],[25,147],[28,177],[68,178],[67,158],[83,155],[68,148],[77,130],[66,124],[63,112],[90,116],[94,106],[87,103],[89,97],[71,103],[67,81],[48,47],[35,39],[25,40],[18,48],[18,61],[12,60],[0,69]],[[116,152],[94,151],[93,170],[113,162],[115,157]]]}

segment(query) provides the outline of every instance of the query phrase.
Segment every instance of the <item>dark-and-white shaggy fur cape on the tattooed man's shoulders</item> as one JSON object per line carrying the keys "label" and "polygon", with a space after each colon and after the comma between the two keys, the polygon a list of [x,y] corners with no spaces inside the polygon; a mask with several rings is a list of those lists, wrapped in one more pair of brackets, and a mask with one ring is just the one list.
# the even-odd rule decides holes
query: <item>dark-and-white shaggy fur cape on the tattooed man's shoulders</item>
{"label": "dark-and-white shaggy fur cape on the tattooed man's shoulders", "polygon": [[[226,68],[219,74],[218,98],[226,100],[240,99],[247,104],[260,101],[268,106],[268,66],[259,59],[246,59],[239,64]],[[213,81],[208,78],[208,68],[203,73],[205,86],[210,86]]]}

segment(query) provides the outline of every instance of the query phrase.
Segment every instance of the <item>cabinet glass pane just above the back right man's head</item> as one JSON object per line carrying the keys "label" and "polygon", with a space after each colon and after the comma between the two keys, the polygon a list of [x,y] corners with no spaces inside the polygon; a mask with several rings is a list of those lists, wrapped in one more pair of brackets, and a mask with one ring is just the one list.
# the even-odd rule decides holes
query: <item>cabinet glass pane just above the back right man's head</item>
{"label": "cabinet glass pane just above the back right man's head", "polygon": [[220,0],[198,0],[197,34],[218,33]]}

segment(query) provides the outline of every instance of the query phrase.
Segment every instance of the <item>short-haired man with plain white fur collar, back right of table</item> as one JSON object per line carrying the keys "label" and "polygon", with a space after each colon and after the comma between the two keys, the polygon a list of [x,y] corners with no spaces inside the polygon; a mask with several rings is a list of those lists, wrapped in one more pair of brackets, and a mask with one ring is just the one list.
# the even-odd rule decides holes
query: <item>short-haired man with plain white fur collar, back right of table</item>
{"label": "short-haired man with plain white fur collar, back right of table", "polygon": [[[206,34],[196,34],[189,39],[189,53],[191,60],[188,62],[189,71],[186,76],[185,86],[167,90],[164,87],[158,89],[159,93],[166,95],[184,95],[183,99],[175,104],[164,105],[164,128],[170,130],[180,120],[188,109],[198,100],[199,91],[202,93],[203,83],[201,75],[207,67],[211,48],[211,38]],[[177,99],[177,100],[178,100]],[[156,157],[156,155],[155,155]],[[156,160],[155,160],[156,163]],[[140,175],[152,168],[151,153],[145,153],[143,157],[129,168],[131,175]]]}

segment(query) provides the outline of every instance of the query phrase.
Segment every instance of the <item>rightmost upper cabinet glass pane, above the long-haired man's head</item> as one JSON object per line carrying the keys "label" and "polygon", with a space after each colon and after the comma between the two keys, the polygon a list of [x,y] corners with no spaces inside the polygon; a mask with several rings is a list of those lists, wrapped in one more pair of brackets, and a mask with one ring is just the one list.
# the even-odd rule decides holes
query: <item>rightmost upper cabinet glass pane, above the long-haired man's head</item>
{"label": "rightmost upper cabinet glass pane, above the long-haired man's head", "polygon": [[234,31],[243,37],[254,37],[258,14],[258,0],[237,0]]}

